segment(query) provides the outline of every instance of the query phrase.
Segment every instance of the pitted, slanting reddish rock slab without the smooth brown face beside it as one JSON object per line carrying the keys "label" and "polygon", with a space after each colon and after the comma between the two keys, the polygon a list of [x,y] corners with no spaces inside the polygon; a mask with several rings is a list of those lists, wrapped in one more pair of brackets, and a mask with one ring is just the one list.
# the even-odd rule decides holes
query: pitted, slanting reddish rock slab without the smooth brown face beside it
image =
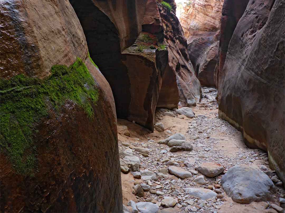
{"label": "pitted, slanting reddish rock slab without the smooth brown face beside it", "polygon": [[[168,51],[168,65],[166,72],[171,76],[171,72],[175,72],[176,83],[179,91],[179,104],[181,106],[196,106],[196,102],[200,101],[201,85],[196,78],[193,66],[189,60],[187,53],[187,41],[184,37],[182,27],[178,18],[167,11],[163,6],[158,6],[161,22],[163,26],[163,34],[159,36],[158,42],[166,44]],[[162,37],[163,36],[163,37]],[[167,80],[168,82],[170,80]],[[169,84],[162,81],[162,94],[169,91]],[[166,92],[165,92],[166,91]],[[170,94],[170,92],[168,92]],[[160,97],[158,100],[160,106]]]}

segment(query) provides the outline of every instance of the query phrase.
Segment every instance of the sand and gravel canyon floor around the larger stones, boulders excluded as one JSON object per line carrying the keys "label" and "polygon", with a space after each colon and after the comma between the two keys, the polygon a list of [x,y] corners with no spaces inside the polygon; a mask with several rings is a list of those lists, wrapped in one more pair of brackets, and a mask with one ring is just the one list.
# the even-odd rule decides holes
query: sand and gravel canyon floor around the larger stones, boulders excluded
{"label": "sand and gravel canyon floor around the larger stones, boulders excluded", "polygon": [[[229,170],[229,168],[239,165],[247,164],[251,166],[265,166],[270,170],[268,166],[268,156],[264,151],[258,149],[249,149],[244,143],[241,132],[237,131],[228,122],[218,118],[218,109],[216,102],[216,92],[209,92],[209,88],[203,88],[203,99],[196,107],[192,107],[196,117],[188,118],[184,115],[168,110],[158,108],[155,114],[155,124],[163,123],[164,131],[158,132],[154,130],[154,133],[149,133],[145,128],[127,120],[118,119],[118,139],[119,149],[126,151],[134,156],[142,159],[140,170],[150,170],[158,174],[158,170],[161,168],[168,168],[163,159],[170,159],[177,162],[179,167],[190,171],[193,176],[191,178],[180,179],[174,175],[168,173],[169,178],[158,177],[158,181],[151,181],[151,189],[161,191],[164,195],[152,194],[149,191],[144,192],[144,197],[137,197],[134,195],[134,184],[145,183],[141,179],[134,178],[131,172],[123,174],[121,172],[122,189],[123,189],[123,204],[127,206],[128,201],[133,200],[135,202],[144,202],[148,199],[148,202],[156,203],[160,206],[162,212],[187,212],[185,205],[182,206],[182,202],[186,202],[188,207],[195,207],[197,212],[277,212],[270,204],[277,204],[280,206],[279,199],[284,198],[284,189],[282,186],[276,186],[276,193],[274,194],[274,200],[268,202],[251,202],[250,204],[239,204],[233,202],[233,200],[226,195],[221,185],[222,176]],[[205,93],[204,93],[205,92]],[[163,116],[163,112],[172,112],[175,117]],[[123,126],[127,126],[130,137],[123,134]],[[178,151],[172,153],[169,151],[170,147],[164,144],[158,144],[157,141],[165,139],[175,133],[182,133],[186,140],[189,141],[194,149],[193,151]],[[190,139],[192,136],[198,136],[198,139]],[[134,150],[135,147],[144,147],[150,149],[148,157]],[[183,163],[187,160],[194,160],[195,165],[193,167],[187,167]],[[121,160],[121,158],[120,158]],[[200,165],[202,162],[216,162],[221,164],[225,170],[222,174],[219,174],[213,178],[204,176],[206,183],[204,185],[196,184],[193,180],[195,177],[200,176],[200,172],[195,170],[196,165]],[[274,171],[273,171],[274,172]],[[196,174],[197,173],[197,174]],[[171,189],[174,186],[175,189]],[[199,206],[199,200],[195,197],[188,196],[185,193],[184,188],[187,187],[203,187],[217,190],[220,193],[219,198],[209,199],[209,205]],[[173,188],[173,187],[172,187]],[[169,196],[176,199],[177,203],[173,208],[167,208],[161,206],[161,200],[164,196]],[[150,201],[151,199],[151,201]],[[187,201],[189,201],[187,203]],[[194,202],[192,202],[194,201]],[[201,203],[200,203],[201,204]],[[130,210],[132,208],[128,206]],[[195,210],[194,208],[194,210]],[[191,212],[191,210],[190,210]]]}

